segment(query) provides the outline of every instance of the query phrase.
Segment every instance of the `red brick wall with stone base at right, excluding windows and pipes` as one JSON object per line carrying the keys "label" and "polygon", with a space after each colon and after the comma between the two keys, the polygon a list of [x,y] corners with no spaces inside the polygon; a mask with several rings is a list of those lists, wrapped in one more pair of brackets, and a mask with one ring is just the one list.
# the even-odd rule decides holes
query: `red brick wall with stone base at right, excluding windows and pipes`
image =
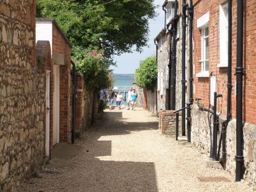
{"label": "red brick wall with stone base at right, excluding windows and pipes", "polygon": [[[210,61],[209,61],[209,74],[215,76],[217,79],[217,92],[222,94],[222,99],[218,101],[218,111],[226,117],[227,115],[227,68],[217,67],[220,62],[219,50],[219,5],[225,1],[195,1],[195,14],[194,14],[194,99],[202,98],[202,105],[209,106],[209,77],[196,77],[196,74],[201,71],[201,31],[197,28],[197,20],[202,17],[206,12],[210,12],[209,21],[209,48],[210,48]],[[256,101],[256,81],[255,81],[255,22],[254,18],[256,12],[255,1],[246,1],[244,3],[244,55],[243,65],[246,75],[243,78],[243,122],[244,122],[244,178],[249,180],[252,185],[256,186],[255,180],[255,101]],[[227,162],[226,170],[235,173],[235,155],[236,155],[236,33],[237,33],[237,4],[232,5],[232,52],[231,52],[231,115],[232,120],[227,127]],[[207,123],[207,113],[198,111],[194,105],[192,111],[192,130],[194,145],[204,148],[209,153],[210,148],[210,127]],[[204,122],[204,123],[202,123]]]}

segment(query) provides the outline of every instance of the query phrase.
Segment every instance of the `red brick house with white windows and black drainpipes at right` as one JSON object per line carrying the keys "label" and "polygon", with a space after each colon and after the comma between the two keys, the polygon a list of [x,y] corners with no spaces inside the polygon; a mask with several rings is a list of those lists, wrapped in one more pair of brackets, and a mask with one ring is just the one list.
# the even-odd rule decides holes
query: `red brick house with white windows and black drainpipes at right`
{"label": "red brick house with white windows and black drainpipes at right", "polygon": [[[224,142],[221,141],[218,160],[225,169],[236,173],[236,180],[245,177],[256,185],[253,177],[256,171],[256,134],[253,131],[256,127],[256,25],[253,19],[256,17],[256,2],[196,0],[193,4],[194,101],[202,99],[199,106],[213,110],[214,92],[220,95],[215,107],[220,119],[217,122],[218,142],[223,136]],[[241,15],[238,15],[238,10]],[[238,66],[240,64],[242,67]],[[242,82],[239,77],[242,77]],[[210,155],[213,144],[210,142],[208,115],[193,106],[192,142]],[[223,129],[227,133],[220,137]],[[241,173],[238,173],[239,169]]]}

